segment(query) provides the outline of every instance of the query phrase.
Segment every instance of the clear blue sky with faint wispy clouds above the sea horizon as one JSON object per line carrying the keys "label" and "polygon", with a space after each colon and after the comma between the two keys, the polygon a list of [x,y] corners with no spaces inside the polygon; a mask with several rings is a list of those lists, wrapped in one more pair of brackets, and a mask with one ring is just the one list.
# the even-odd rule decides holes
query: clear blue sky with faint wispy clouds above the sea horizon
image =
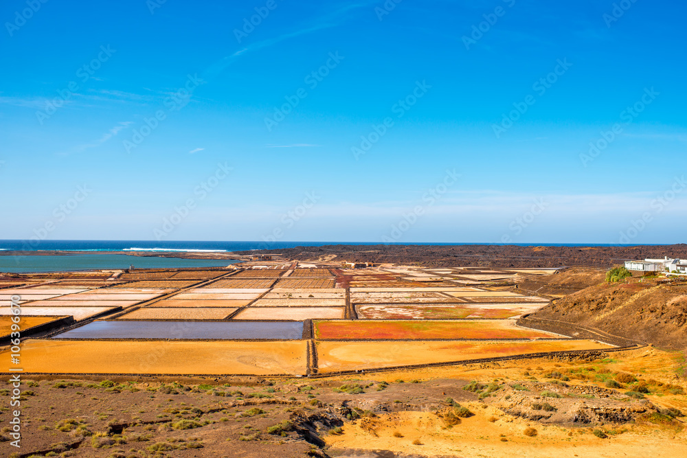
{"label": "clear blue sky with faint wispy clouds above the sea horizon", "polygon": [[0,239],[684,242],[687,6],[622,6],[5,1]]}

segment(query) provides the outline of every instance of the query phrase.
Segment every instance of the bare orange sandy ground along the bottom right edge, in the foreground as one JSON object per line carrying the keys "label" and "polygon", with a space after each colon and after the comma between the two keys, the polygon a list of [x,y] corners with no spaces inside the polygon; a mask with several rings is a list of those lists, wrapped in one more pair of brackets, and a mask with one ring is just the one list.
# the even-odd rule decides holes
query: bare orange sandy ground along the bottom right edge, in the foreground
{"label": "bare orange sandy ground along the bottom right edge, in the foreground", "polygon": [[[451,428],[430,412],[399,412],[346,424],[343,435],[329,435],[326,442],[334,450],[391,450],[423,457],[684,457],[687,448],[684,432],[657,431],[655,425],[631,426],[626,433],[600,439],[591,428],[541,426],[494,407],[464,405],[476,415]],[[523,434],[528,426],[537,429],[536,437]],[[415,440],[422,445],[414,445]]]}

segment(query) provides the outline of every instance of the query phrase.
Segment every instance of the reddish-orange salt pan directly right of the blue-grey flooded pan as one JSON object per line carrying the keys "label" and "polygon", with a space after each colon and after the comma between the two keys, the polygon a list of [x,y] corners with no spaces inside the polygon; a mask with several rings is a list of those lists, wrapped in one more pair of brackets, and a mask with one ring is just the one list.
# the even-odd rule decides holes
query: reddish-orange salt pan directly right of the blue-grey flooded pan
{"label": "reddish-orange salt pan directly right of the blue-grey flooded pan", "polygon": [[[315,321],[315,339],[541,339],[550,332],[517,328],[509,320]],[[562,337],[562,336],[556,336]]]}

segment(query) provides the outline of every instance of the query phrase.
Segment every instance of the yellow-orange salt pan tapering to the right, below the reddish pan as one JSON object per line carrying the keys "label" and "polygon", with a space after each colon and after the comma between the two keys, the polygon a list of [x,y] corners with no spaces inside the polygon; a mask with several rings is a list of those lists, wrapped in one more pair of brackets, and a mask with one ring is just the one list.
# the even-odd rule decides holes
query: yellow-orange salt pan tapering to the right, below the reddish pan
{"label": "yellow-orange salt pan tapering to the right, below the reddish pan", "polygon": [[[317,342],[319,372],[443,363],[539,352],[611,348],[594,341]],[[433,370],[433,369],[427,369]]]}

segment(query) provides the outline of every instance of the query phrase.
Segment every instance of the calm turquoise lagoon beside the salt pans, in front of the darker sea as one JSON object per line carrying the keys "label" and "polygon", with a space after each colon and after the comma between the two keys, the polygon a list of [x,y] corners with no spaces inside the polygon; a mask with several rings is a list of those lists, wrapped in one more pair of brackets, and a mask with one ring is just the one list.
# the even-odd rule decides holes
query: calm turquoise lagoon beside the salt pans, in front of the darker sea
{"label": "calm turquoise lagoon beside the salt pans, in front of the darker sea", "polygon": [[102,268],[180,268],[226,267],[233,260],[188,260],[181,257],[132,256],[112,253],[93,253],[63,256],[0,255],[0,272],[58,272],[87,271]]}

